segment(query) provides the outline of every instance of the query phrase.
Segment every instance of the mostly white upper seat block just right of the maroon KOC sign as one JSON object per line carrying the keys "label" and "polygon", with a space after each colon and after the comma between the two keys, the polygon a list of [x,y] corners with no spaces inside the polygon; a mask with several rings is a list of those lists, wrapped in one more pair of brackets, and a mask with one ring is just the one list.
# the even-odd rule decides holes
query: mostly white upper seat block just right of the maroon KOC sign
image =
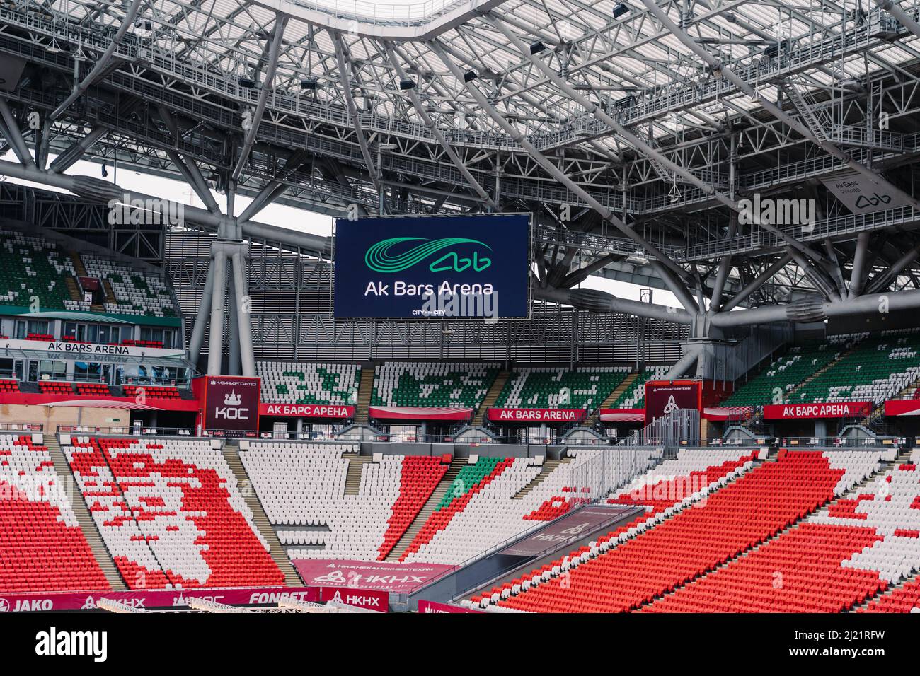
{"label": "mostly white upper seat block just right of the maroon KOC sign", "polygon": [[357,364],[315,364],[257,361],[262,400],[268,404],[353,405],[358,399],[361,367]]}

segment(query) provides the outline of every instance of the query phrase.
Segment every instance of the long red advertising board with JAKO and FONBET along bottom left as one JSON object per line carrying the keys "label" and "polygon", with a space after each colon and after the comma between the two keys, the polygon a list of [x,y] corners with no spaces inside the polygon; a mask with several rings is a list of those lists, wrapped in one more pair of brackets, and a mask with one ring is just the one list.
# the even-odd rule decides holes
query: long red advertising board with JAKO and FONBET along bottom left
{"label": "long red advertising board with JAKO and FONBET along bottom left", "polygon": [[284,600],[320,601],[316,587],[245,587],[236,589],[72,591],[48,594],[2,594],[0,613],[94,610],[99,599],[110,599],[133,608],[172,608],[188,605],[188,599],[206,599],[227,605],[270,605]]}

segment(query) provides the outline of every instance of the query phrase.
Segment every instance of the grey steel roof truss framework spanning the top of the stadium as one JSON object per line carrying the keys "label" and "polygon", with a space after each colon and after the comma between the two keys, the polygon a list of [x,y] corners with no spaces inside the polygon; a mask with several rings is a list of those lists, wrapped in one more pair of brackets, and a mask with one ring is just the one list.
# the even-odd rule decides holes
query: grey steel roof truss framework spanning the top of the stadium
{"label": "grey steel roof truss framework spanning the top of the stadium", "polygon": [[[117,161],[186,181],[204,204],[185,207],[193,227],[321,256],[324,238],[259,212],[274,201],[329,214],[533,212],[536,298],[678,322],[696,338],[914,308],[918,10],[3,0],[0,52],[25,66],[0,86],[0,149],[18,160],[0,174],[95,201],[154,199],[67,173],[81,158]],[[851,212],[822,182],[841,175],[898,206]],[[237,194],[254,201],[227,216]],[[809,201],[814,217],[740,218],[754,196]],[[226,246],[212,268],[242,286],[247,248]],[[680,306],[577,288],[588,275],[668,289]],[[213,286],[193,360],[208,315],[223,335]]]}

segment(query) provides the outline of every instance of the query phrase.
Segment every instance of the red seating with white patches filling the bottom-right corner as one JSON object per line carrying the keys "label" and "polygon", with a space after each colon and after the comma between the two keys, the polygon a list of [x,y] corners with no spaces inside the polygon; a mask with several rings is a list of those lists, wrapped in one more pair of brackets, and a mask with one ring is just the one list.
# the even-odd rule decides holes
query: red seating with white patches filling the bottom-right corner
{"label": "red seating with white patches filling the bottom-right corner", "polygon": [[[900,464],[757,551],[653,603],[649,610],[851,610],[920,568],[918,477],[914,463]],[[908,585],[871,602],[867,610],[910,611],[916,595]]]}

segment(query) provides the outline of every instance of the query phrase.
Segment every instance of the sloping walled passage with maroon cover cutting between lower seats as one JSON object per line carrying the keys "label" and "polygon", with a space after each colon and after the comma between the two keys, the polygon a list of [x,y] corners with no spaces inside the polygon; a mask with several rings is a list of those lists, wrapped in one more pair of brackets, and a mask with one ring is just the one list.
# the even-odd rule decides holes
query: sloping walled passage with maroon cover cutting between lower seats
{"label": "sloping walled passage with maroon cover cutting between lower seats", "polygon": [[392,595],[390,607],[416,612],[420,601],[446,603],[487,586],[514,579],[522,570],[533,570],[566,552],[591,542],[635,519],[643,508],[591,502],[553,521],[541,522],[523,533],[496,544],[486,553],[457,564],[408,594]]}

